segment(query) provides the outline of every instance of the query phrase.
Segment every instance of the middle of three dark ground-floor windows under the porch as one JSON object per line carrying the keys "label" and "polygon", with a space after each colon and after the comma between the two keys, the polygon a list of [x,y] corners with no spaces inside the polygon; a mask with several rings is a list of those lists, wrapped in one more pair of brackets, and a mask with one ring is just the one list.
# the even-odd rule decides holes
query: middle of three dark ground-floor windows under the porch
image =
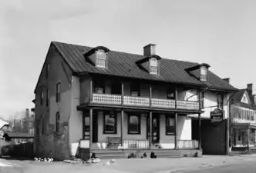
{"label": "middle of three dark ground-floor windows under the porch", "polygon": [[129,115],[128,119],[128,134],[130,135],[140,135],[140,116],[139,115]]}

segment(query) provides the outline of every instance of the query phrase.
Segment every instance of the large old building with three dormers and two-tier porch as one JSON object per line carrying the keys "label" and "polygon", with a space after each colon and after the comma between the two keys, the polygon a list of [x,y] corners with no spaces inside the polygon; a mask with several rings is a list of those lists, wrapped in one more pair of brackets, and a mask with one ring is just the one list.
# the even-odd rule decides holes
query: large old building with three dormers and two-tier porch
{"label": "large old building with three dormers and two-tier porch", "polygon": [[69,158],[77,144],[97,156],[193,154],[205,103],[223,108],[237,91],[209,68],[162,58],[154,44],[135,55],[52,42],[35,87],[36,154]]}

